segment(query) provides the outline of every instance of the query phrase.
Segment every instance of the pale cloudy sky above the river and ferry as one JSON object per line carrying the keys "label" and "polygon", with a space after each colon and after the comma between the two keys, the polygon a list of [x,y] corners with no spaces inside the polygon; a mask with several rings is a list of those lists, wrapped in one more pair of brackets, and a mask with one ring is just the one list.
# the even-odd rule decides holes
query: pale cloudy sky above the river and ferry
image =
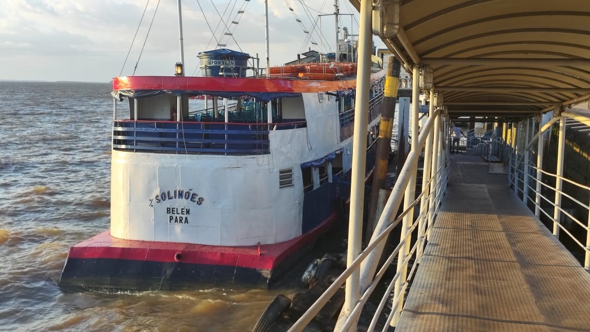
{"label": "pale cloudy sky above the river and ferry", "polygon": [[[318,14],[332,14],[333,4],[269,0],[271,66],[294,60],[309,47],[319,51],[320,44],[321,51],[333,51],[333,16],[321,19],[321,38],[319,23],[314,22]],[[172,75],[181,61],[176,0],[0,0],[0,8],[0,80],[109,82],[134,71],[136,76]],[[240,10],[244,13],[238,14]],[[358,34],[353,6],[340,1],[340,13],[355,13],[354,18],[343,15],[340,27]],[[216,40],[231,50],[258,54],[264,67],[263,0],[183,1],[182,24],[187,76],[200,74],[197,54],[217,48]],[[226,25],[232,36],[225,35]],[[374,40],[381,47],[381,41]]]}

